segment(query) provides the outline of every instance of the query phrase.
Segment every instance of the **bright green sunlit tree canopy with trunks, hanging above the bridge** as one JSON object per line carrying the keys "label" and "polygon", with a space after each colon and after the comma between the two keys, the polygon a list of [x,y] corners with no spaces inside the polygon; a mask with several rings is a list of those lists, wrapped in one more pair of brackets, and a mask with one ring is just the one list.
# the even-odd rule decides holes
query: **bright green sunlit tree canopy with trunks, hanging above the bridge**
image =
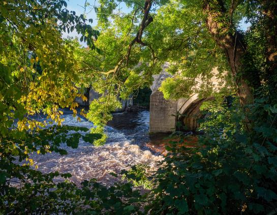
{"label": "bright green sunlit tree canopy with trunks, hanging above the bridge", "polygon": [[[115,10],[120,4],[131,11]],[[163,83],[164,95],[177,99],[194,90],[203,98],[216,96],[210,79],[217,68],[217,77],[225,80],[221,95],[236,94],[242,106],[253,104],[255,89],[265,82],[275,86],[269,72],[275,64],[269,57],[275,53],[274,7],[271,1],[100,2],[96,12],[102,34],[96,43],[101,52],[93,50],[84,67],[92,71],[88,76],[95,78],[95,90],[125,99],[149,85],[165,63],[174,76]],[[240,28],[244,21],[251,23],[249,29]]]}

